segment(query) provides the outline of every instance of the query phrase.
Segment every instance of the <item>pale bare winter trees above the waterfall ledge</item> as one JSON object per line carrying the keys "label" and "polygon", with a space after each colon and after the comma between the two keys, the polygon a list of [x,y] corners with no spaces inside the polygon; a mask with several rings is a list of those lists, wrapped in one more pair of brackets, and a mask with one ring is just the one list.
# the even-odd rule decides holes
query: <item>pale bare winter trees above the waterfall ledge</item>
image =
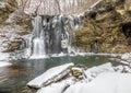
{"label": "pale bare winter trees above the waterfall ledge", "polygon": [[17,0],[20,7],[37,14],[74,14],[86,11],[98,0]]}

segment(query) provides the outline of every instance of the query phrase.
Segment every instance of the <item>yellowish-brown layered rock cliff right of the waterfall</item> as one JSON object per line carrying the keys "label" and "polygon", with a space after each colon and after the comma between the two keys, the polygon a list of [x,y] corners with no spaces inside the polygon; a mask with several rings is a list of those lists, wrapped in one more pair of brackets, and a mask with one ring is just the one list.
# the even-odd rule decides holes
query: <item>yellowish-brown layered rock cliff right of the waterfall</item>
{"label": "yellowish-brown layered rock cliff right of the waterfall", "polygon": [[131,51],[131,15],[124,3],[97,7],[83,16],[85,25],[76,31],[73,44],[86,51]]}

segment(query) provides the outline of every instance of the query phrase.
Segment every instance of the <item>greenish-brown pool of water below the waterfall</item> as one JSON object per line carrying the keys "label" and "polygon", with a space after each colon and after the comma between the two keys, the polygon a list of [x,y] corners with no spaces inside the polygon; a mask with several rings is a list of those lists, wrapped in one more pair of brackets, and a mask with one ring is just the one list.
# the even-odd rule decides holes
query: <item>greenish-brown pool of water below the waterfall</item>
{"label": "greenish-brown pool of water below the waterfall", "polygon": [[[26,83],[51,67],[74,62],[87,68],[109,62],[109,57],[56,57],[46,59],[12,60],[10,67],[0,68],[0,93],[33,93]],[[116,62],[112,61],[114,65]]]}

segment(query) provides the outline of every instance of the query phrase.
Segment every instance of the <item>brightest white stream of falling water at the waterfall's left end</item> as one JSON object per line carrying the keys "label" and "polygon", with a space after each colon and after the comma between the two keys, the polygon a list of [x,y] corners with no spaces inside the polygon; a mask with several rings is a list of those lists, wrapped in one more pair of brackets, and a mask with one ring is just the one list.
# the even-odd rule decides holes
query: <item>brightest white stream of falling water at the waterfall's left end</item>
{"label": "brightest white stream of falling water at the waterfall's left end", "polygon": [[45,56],[45,32],[41,26],[41,18],[37,16],[33,21],[33,57]]}

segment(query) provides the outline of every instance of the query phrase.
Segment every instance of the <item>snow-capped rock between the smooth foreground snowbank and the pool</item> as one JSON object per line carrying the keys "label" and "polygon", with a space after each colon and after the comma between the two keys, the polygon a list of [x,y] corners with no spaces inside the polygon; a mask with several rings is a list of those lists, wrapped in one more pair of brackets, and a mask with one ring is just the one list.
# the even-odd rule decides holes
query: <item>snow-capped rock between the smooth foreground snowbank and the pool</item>
{"label": "snow-capped rock between the smooth foreground snowbank and the pool", "polygon": [[97,67],[93,67],[91,69],[87,69],[85,71],[85,74],[88,81],[91,81],[102,72],[115,72],[112,65],[110,62],[107,62]]}

